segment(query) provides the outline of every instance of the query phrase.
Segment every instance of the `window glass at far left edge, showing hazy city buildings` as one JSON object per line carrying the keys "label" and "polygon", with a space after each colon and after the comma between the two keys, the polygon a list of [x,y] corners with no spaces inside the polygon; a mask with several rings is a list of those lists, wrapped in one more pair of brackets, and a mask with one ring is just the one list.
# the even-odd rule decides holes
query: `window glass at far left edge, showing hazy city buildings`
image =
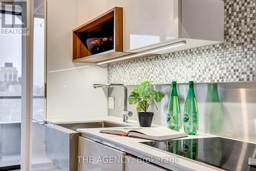
{"label": "window glass at far left edge, showing hazy city buildings", "polygon": [[[11,15],[3,15],[6,15],[6,22],[10,22]],[[2,168],[20,164],[21,82],[10,81],[22,76],[21,35],[0,35],[0,75],[3,75],[0,79],[0,168]]]}

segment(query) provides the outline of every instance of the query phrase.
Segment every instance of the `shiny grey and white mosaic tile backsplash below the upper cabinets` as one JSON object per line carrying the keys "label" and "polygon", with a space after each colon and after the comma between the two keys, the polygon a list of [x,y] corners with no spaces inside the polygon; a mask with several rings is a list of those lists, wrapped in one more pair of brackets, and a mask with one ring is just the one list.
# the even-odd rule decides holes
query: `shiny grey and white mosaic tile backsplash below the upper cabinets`
{"label": "shiny grey and white mosaic tile backsplash below the upper cabinets", "polygon": [[108,66],[109,82],[256,81],[256,0],[224,2],[222,44],[112,63]]}

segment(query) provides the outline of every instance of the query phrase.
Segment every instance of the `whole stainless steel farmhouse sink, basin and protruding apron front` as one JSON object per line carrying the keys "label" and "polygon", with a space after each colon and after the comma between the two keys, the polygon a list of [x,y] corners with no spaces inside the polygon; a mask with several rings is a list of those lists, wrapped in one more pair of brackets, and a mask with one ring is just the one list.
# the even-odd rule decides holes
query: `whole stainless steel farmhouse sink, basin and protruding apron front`
{"label": "whole stainless steel farmhouse sink, basin and protruding apron front", "polygon": [[69,124],[46,124],[46,156],[65,171],[77,170],[77,129],[130,126],[115,122],[88,122]]}

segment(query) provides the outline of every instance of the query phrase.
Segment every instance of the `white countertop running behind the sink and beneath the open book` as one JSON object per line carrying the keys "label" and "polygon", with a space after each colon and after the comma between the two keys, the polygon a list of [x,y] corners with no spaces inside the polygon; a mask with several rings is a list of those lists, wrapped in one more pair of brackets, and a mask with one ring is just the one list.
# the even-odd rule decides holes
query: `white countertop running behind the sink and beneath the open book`
{"label": "white countertop running behind the sink and beneath the open book", "polygon": [[[129,120],[129,122],[125,123],[122,121],[122,118],[117,117],[83,117],[83,118],[62,118],[62,119],[47,119],[47,122],[53,124],[64,124],[64,123],[86,123],[86,122],[115,122],[120,124],[126,124],[130,126],[139,126],[138,121]],[[152,126],[161,126],[152,124]],[[103,144],[115,147],[120,149],[126,153],[133,154],[139,157],[156,157],[156,158],[178,158],[179,162],[171,164],[171,163],[156,163],[168,169],[175,170],[218,170],[218,168],[206,165],[204,163],[196,163],[190,161],[189,159],[181,158],[180,156],[170,155],[164,152],[157,151],[156,149],[146,147],[138,144],[138,142],[148,141],[144,139],[132,138],[132,137],[124,137],[124,136],[114,136],[109,134],[99,133],[102,128],[93,128],[93,129],[78,129],[77,131],[82,133],[82,136],[93,139],[95,141],[101,142]],[[207,138],[207,137],[215,137],[208,134],[198,133],[195,136],[188,136],[186,138]],[[184,139],[184,138],[183,138]],[[135,154],[136,153],[136,154]]]}

